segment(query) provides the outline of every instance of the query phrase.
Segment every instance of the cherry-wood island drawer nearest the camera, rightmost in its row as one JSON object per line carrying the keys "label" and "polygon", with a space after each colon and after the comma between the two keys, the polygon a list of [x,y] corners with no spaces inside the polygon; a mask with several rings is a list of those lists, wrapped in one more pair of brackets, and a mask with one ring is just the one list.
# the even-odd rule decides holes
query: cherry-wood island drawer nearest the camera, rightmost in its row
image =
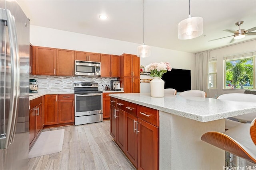
{"label": "cherry-wood island drawer nearest the camera, rightmost in its row", "polygon": [[138,118],[159,127],[159,111],[138,105]]}

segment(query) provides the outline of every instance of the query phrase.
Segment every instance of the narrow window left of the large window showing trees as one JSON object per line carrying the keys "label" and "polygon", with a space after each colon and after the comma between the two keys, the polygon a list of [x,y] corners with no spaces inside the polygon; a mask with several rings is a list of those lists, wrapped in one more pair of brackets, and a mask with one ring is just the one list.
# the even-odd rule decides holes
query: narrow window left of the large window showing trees
{"label": "narrow window left of the large window showing trees", "polygon": [[217,87],[217,61],[210,60],[209,61],[209,70],[208,70],[208,88],[216,88]]}

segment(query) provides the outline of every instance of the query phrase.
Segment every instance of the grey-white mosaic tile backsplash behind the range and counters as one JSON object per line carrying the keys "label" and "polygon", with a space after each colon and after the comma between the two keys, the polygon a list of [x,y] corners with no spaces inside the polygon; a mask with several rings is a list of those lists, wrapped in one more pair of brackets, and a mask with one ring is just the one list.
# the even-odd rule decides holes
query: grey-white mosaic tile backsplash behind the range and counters
{"label": "grey-white mosaic tile backsplash behind the range and counters", "polygon": [[117,78],[100,78],[93,76],[39,76],[30,75],[30,79],[38,80],[38,92],[54,92],[74,91],[73,84],[76,82],[96,82],[99,84],[99,90],[103,91],[105,84],[110,85],[110,80],[117,80]]}

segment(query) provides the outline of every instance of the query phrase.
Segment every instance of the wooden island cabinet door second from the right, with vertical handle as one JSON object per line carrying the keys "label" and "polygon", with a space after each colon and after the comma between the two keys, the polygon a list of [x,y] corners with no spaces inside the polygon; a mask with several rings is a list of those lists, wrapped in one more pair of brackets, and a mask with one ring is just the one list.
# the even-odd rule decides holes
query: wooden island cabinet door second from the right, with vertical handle
{"label": "wooden island cabinet door second from the right, with vertical handle", "polygon": [[134,117],[127,112],[125,113],[125,154],[136,168],[138,168],[137,121],[137,117]]}

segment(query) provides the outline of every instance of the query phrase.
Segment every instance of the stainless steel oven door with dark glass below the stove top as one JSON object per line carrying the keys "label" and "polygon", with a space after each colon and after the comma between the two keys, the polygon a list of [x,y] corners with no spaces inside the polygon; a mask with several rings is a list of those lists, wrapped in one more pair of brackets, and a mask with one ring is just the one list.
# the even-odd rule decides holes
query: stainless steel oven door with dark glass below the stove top
{"label": "stainless steel oven door with dark glass below the stove top", "polygon": [[102,93],[75,94],[75,116],[95,115],[102,111]]}

